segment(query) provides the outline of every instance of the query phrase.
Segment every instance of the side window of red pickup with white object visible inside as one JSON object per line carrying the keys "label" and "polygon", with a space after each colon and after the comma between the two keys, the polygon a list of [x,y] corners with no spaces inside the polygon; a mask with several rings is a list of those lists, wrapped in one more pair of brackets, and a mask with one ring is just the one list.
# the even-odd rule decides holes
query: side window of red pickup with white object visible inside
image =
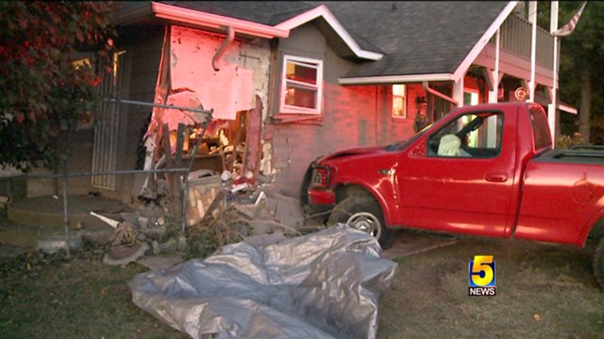
{"label": "side window of red pickup with white object visible inside", "polygon": [[428,139],[428,156],[489,158],[501,151],[503,114],[470,113],[449,122]]}

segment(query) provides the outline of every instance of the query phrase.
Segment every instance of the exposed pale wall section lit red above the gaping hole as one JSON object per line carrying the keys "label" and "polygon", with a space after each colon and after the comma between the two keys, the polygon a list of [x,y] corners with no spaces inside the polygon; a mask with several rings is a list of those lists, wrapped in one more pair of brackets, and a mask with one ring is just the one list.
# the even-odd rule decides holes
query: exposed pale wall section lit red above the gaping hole
{"label": "exposed pale wall section lit red above the gaping hole", "polygon": [[[233,126],[243,111],[266,107],[271,49],[266,39],[251,39],[232,34],[210,33],[202,30],[172,26],[167,31],[161,67],[162,76],[156,78],[155,101],[176,104],[173,98],[186,92],[188,101],[197,102],[205,109],[213,109],[213,123],[206,136],[214,135],[219,128]],[[217,54],[217,51],[221,51]],[[161,54],[161,53],[160,53]],[[159,76],[159,74],[158,74]],[[165,97],[167,96],[167,100]],[[188,106],[187,104],[176,104]],[[259,120],[266,113],[259,110]],[[147,130],[150,139],[157,136],[158,126],[164,123],[173,130],[182,122],[185,125],[201,124],[202,118],[185,119],[187,114],[178,110],[153,109],[153,118]],[[248,116],[249,118],[249,116]],[[260,148],[260,128],[243,131],[247,144]],[[234,141],[234,132],[226,132]],[[255,138],[252,138],[255,136]],[[150,157],[151,152],[148,151]],[[174,151],[174,150],[173,150]],[[245,159],[251,160],[251,154]],[[157,157],[153,158],[156,161]],[[150,158],[147,165],[150,165]],[[256,162],[254,162],[255,164]],[[213,168],[214,170],[219,170]],[[255,170],[251,169],[252,173]],[[140,182],[140,180],[139,180]],[[140,191],[133,189],[133,192]]]}

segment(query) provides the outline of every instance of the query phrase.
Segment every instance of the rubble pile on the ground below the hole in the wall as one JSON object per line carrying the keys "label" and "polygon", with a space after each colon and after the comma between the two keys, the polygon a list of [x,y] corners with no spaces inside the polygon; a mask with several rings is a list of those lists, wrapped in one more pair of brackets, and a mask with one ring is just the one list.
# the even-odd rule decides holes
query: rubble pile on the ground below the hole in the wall
{"label": "rubble pile on the ground below the hole in the wall", "polygon": [[[104,262],[126,265],[146,253],[204,258],[249,237],[303,233],[298,200],[269,192],[267,178],[242,182],[226,173],[191,172],[183,216],[171,212],[169,195],[145,201],[136,212],[120,213],[120,220],[91,212],[114,229]],[[157,182],[158,187],[165,186],[165,180]],[[185,218],[184,233],[179,217]]]}

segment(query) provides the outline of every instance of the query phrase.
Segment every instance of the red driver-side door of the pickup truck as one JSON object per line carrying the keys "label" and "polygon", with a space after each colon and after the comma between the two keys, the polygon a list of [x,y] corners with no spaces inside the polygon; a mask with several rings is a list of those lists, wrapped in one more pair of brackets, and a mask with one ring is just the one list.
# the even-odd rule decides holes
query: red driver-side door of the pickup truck
{"label": "red driver-side door of the pickup truck", "polygon": [[402,224],[503,236],[512,201],[516,115],[505,118],[493,110],[467,112],[426,136],[425,153],[402,154]]}

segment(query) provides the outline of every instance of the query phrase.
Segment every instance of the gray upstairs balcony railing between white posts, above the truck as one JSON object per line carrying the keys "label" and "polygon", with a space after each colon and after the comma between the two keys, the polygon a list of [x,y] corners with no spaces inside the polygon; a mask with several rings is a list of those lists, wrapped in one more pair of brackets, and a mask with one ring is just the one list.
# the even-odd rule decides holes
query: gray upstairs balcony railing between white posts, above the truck
{"label": "gray upstairs balcony railing between white posts, above the truck", "polygon": [[[510,15],[501,25],[500,48],[530,60],[532,25],[522,17]],[[495,45],[495,37],[489,41]],[[537,27],[536,62],[553,69],[554,38],[548,31]]]}

